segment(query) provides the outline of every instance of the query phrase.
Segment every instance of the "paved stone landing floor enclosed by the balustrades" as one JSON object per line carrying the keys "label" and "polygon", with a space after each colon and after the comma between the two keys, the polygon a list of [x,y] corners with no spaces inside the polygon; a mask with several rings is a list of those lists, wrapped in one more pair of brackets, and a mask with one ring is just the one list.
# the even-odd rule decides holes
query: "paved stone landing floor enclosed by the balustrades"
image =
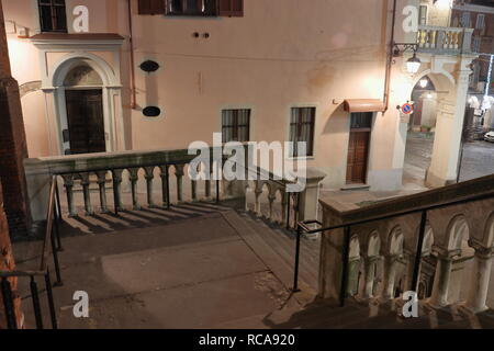
{"label": "paved stone landing floor enclosed by the balustrades", "polygon": [[[262,326],[289,298],[292,263],[252,238],[261,230],[247,233],[243,222],[232,210],[205,204],[66,218],[64,285],[54,290],[60,327],[223,328],[246,320]],[[38,262],[40,241],[14,249],[19,269]],[[294,250],[288,251],[293,258]],[[27,284],[22,280],[20,290],[27,325],[34,326]],[[76,291],[89,294],[90,318],[74,317]],[[41,298],[49,325],[44,293]]]}

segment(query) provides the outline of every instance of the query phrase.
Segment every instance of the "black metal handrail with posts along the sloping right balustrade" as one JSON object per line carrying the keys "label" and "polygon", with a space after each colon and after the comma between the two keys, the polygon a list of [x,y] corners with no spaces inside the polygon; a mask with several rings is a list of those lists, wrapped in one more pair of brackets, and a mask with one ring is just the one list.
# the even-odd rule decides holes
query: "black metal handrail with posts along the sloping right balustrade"
{"label": "black metal handrail with posts along the sloping right balustrade", "polygon": [[[293,292],[299,292],[299,262],[300,262],[300,245],[301,245],[301,237],[303,235],[310,235],[310,234],[319,234],[324,231],[333,231],[336,229],[344,229],[344,245],[341,250],[341,258],[343,258],[343,269],[341,269],[341,285],[340,285],[340,294],[339,294],[339,303],[340,306],[345,306],[345,299],[347,295],[347,285],[348,285],[348,261],[349,261],[349,252],[350,252],[350,239],[351,239],[351,228],[359,225],[364,225],[378,220],[385,220],[396,217],[402,217],[406,215],[412,214],[420,214],[420,225],[418,230],[418,240],[417,240],[417,247],[415,251],[415,260],[414,260],[414,271],[412,275],[412,283],[411,283],[411,291],[417,291],[417,284],[418,284],[418,278],[419,278],[419,271],[420,271],[420,262],[422,262],[422,252],[424,247],[424,238],[426,233],[426,226],[427,226],[427,214],[430,211],[434,210],[440,210],[445,207],[450,207],[454,205],[462,205],[471,202],[482,201],[482,200],[490,200],[494,197],[494,191],[487,191],[483,194],[475,194],[465,196],[459,200],[453,201],[447,201],[434,205],[424,205],[424,206],[417,206],[413,210],[405,210],[405,211],[398,211],[396,213],[392,213],[389,215],[380,215],[374,216],[361,220],[349,220],[347,223],[340,224],[340,225],[334,225],[329,227],[323,227],[323,223],[319,220],[303,220],[297,223],[296,227],[296,244],[295,244],[295,262],[294,262],[294,270],[293,270]],[[317,228],[311,228],[310,226],[317,226]]]}

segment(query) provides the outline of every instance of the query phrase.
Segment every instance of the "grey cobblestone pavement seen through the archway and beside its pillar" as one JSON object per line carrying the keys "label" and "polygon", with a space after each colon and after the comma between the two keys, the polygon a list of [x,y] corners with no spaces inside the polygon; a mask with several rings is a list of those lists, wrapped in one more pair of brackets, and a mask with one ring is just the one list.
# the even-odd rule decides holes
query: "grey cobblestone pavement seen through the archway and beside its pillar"
{"label": "grey cobblestone pavement seen through the archway and beside its pillar", "polygon": [[[406,143],[405,169],[403,182],[405,185],[425,186],[426,169],[430,165],[434,135],[409,134]],[[474,141],[464,144],[461,162],[461,181],[494,173],[494,144]]]}

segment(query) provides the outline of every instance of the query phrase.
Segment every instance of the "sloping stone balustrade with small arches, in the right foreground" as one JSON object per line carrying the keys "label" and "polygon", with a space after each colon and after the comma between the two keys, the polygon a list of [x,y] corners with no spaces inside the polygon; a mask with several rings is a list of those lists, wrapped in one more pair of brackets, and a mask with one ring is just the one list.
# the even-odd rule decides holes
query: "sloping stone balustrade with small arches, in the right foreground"
{"label": "sloping stone balustrade with small arches, in the right foreground", "polygon": [[[345,230],[323,234],[322,296],[340,297],[346,271],[347,294],[357,298],[393,299],[416,291],[431,307],[460,304],[472,313],[487,308],[494,249],[494,174],[367,207],[349,208],[326,200],[322,205],[324,227],[360,223],[347,231],[347,270],[343,264]],[[424,240],[417,254],[424,210]],[[383,216],[386,219],[373,219]],[[412,282],[417,257],[422,259],[415,290]]]}

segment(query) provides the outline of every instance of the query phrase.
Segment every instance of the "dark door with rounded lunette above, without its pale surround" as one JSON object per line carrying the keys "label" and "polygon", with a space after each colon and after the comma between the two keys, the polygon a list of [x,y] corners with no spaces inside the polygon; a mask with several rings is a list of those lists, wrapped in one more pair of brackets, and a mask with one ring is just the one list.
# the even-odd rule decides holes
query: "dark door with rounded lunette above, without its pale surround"
{"label": "dark door with rounded lunette above, without its pale surround", "polygon": [[106,151],[103,81],[85,61],[69,70],[65,80],[67,128],[63,129],[66,155]]}

